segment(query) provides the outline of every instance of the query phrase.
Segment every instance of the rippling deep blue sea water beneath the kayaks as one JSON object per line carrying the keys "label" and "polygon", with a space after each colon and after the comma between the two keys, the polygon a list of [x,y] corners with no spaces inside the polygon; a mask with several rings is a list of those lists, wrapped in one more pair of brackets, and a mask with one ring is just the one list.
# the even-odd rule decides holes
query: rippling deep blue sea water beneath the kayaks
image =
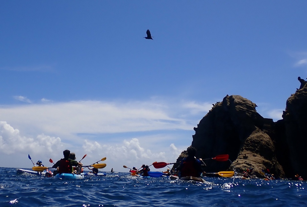
{"label": "rippling deep blue sea water beneath the kayaks", "polygon": [[306,181],[204,179],[199,183],[107,173],[61,180],[0,168],[0,206],[307,206]]}

